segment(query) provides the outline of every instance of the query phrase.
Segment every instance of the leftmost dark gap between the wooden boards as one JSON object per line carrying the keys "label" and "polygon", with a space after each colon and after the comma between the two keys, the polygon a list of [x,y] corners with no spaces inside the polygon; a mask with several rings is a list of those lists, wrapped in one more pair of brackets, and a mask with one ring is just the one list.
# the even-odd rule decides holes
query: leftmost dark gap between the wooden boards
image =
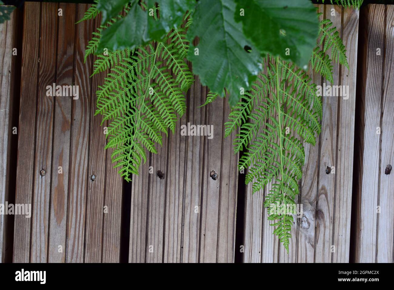
{"label": "leftmost dark gap between the wooden boards", "polygon": [[[10,92],[10,116],[8,128],[8,161],[7,161],[7,184],[6,201],[15,204],[15,188],[17,177],[17,154],[18,154],[18,135],[13,134],[13,127],[19,130],[19,102],[20,102],[20,76],[22,75],[22,30],[23,30],[23,11],[15,9],[13,11],[15,21],[13,26],[13,47],[17,49],[17,56],[12,56],[11,60],[11,92]],[[4,241],[4,262],[12,263],[13,258],[13,238],[14,238],[14,217],[15,215],[5,216],[5,241]],[[0,249],[1,250],[1,249]],[[0,261],[2,262],[2,261]]]}

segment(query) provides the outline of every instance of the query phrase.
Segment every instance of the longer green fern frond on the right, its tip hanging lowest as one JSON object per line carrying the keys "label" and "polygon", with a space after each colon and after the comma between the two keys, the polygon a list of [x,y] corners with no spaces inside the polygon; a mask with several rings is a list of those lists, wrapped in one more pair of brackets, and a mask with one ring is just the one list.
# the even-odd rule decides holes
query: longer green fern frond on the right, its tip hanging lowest
{"label": "longer green fern frond on the right, its tip hanging lowest", "polygon": [[[264,62],[266,73],[260,73],[252,90],[232,109],[225,135],[239,129],[234,151],[247,149],[238,166],[249,167],[245,182],[252,183],[253,193],[272,182],[264,206],[279,202],[286,207],[299,193],[305,160],[301,140],[315,144],[321,131],[322,101],[305,71],[279,57],[267,56]],[[273,213],[268,219],[275,221],[274,233],[288,251],[293,217]]]}

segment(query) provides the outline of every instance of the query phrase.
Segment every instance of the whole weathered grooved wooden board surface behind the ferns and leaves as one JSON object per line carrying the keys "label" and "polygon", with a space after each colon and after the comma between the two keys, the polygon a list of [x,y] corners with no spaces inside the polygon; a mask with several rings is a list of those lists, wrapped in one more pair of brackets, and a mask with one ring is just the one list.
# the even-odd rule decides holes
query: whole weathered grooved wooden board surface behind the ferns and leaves
{"label": "whole weathered grooved wooden board surface behind the ferns and leaves", "polygon": [[[88,7],[26,2],[17,55],[21,13],[0,24],[0,204],[32,204],[30,219],[0,215],[2,262],[393,262],[394,175],[385,174],[394,163],[393,6],[319,5],[346,46],[350,67],[335,65],[333,85],[349,86],[349,95],[323,97],[322,133],[316,146],[305,144],[303,216],[288,254],[262,206],[269,186],[251,194],[232,153],[235,134],[223,138],[227,101],[199,108],[208,90],[197,78],[175,134],[131,186],[119,177],[93,116],[105,74],[90,78],[94,58],[83,61],[100,19],[74,24]],[[52,83],[78,85],[79,98],[47,96]],[[181,136],[187,123],[213,125],[215,138]]]}

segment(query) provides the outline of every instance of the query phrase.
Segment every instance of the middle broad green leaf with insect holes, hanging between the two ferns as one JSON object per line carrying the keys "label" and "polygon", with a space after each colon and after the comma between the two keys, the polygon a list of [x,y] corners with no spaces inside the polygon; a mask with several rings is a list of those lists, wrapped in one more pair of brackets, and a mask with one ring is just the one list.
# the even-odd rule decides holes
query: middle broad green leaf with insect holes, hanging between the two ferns
{"label": "middle broad green leaf with insect holes, hanging between the two ferns", "polygon": [[[241,88],[249,90],[262,70],[260,53],[243,35],[241,23],[234,21],[234,11],[234,0],[201,0],[187,33],[190,42],[200,39],[198,45],[190,43],[189,47],[193,73],[212,93],[223,96],[226,88],[232,106],[242,97]],[[250,48],[252,51],[247,52]]]}

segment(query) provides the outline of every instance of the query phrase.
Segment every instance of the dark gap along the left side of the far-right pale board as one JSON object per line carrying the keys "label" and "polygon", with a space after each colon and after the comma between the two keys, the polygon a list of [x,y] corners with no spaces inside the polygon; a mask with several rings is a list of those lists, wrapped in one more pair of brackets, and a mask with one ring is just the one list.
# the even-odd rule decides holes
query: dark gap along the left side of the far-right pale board
{"label": "dark gap along the left side of the far-right pale board", "polygon": [[367,16],[368,10],[364,7],[360,9],[359,17],[359,37],[357,52],[357,79],[356,79],[356,105],[354,124],[354,153],[353,153],[353,185],[351,197],[351,220],[350,220],[350,249],[349,263],[355,263],[358,251],[357,235],[359,235],[360,205],[362,190],[362,152],[364,147],[364,92],[365,83],[364,71],[366,71],[367,53]]}

